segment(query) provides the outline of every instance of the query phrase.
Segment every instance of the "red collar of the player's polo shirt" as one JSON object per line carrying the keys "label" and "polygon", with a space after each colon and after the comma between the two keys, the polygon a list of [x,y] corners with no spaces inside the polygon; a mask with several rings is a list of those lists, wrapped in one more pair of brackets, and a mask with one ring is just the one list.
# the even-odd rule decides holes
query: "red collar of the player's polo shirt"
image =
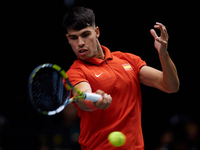
{"label": "red collar of the player's polo shirt", "polygon": [[104,54],[105,54],[104,60],[92,57],[92,58],[87,59],[85,61],[99,66],[101,63],[105,62],[105,60],[112,60],[113,56],[112,56],[112,53],[110,52],[110,50],[103,45],[101,45],[101,47],[102,47]]}

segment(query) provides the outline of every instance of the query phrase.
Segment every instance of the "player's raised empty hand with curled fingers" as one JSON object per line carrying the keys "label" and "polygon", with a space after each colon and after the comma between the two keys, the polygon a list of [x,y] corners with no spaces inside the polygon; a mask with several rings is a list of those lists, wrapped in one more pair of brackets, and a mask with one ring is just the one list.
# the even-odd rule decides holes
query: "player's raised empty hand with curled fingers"
{"label": "player's raised empty hand with curled fingers", "polygon": [[168,47],[168,39],[169,39],[167,29],[163,24],[158,23],[158,22],[156,22],[156,25],[154,25],[154,28],[160,29],[160,32],[161,32],[160,37],[158,37],[154,29],[150,30],[151,35],[154,37],[154,40],[155,40],[154,46],[157,49],[159,54],[166,53],[167,47]]}

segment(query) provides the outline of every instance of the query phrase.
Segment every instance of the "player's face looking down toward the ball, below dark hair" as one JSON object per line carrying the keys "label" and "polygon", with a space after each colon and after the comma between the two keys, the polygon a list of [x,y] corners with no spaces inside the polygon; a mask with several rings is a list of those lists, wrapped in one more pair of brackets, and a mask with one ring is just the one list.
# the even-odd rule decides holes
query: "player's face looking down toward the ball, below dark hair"
{"label": "player's face looking down toward the ball, below dark hair", "polygon": [[81,60],[87,60],[99,55],[98,42],[99,28],[86,27],[82,30],[69,30],[66,37],[74,53]]}

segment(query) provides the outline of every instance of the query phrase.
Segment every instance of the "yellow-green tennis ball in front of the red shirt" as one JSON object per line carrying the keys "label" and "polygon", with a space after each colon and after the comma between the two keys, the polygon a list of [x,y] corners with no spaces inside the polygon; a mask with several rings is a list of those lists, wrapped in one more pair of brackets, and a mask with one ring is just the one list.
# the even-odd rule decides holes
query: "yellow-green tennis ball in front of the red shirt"
{"label": "yellow-green tennis ball in front of the red shirt", "polygon": [[111,132],[108,135],[108,141],[116,147],[122,146],[124,145],[124,143],[126,142],[126,136],[119,131],[115,131],[115,132]]}

